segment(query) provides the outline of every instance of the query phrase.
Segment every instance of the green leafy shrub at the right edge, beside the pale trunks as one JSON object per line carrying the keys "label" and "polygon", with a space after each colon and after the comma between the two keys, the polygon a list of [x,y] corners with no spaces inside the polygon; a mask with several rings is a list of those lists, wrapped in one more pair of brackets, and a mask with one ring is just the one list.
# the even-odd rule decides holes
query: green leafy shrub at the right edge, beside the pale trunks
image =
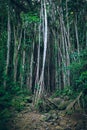
{"label": "green leafy shrub at the right edge, beside the pale trunks", "polygon": [[87,86],[87,49],[82,50],[79,55],[74,57],[76,60],[70,65],[72,87],[74,90],[81,91]]}

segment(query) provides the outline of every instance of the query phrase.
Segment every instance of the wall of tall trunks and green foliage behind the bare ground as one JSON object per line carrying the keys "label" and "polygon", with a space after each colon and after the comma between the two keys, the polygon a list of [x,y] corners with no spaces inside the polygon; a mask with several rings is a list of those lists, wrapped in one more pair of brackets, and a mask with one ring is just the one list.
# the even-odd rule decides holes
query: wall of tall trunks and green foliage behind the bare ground
{"label": "wall of tall trunks and green foliage behind the bare ground", "polygon": [[0,1],[0,128],[27,95],[81,92],[85,110],[87,0]]}

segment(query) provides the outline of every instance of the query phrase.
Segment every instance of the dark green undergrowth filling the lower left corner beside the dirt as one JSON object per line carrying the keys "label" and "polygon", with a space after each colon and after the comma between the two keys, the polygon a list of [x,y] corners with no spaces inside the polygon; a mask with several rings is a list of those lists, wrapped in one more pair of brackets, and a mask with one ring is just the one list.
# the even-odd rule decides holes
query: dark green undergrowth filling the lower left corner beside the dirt
{"label": "dark green undergrowth filling the lower left corner beside the dirt", "polygon": [[17,84],[9,89],[0,86],[0,128],[2,130],[7,130],[6,123],[13,116],[13,111],[21,111],[24,108],[27,95],[31,95],[31,92],[21,90]]}

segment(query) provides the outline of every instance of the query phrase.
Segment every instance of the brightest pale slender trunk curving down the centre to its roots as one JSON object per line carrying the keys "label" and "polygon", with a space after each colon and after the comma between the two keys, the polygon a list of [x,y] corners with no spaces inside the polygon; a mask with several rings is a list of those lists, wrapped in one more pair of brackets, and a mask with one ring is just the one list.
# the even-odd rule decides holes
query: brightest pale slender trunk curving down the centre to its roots
{"label": "brightest pale slender trunk curving down the centre to its roots", "polygon": [[[41,96],[43,96],[44,92],[44,69],[45,69],[45,61],[46,61],[46,51],[47,51],[47,11],[46,11],[46,1],[44,0],[44,51],[43,51],[43,64],[42,64],[42,70],[41,70],[41,75],[39,79],[39,89],[36,91],[36,97],[35,97],[35,103],[40,99]],[[42,6],[41,6],[42,7]]]}

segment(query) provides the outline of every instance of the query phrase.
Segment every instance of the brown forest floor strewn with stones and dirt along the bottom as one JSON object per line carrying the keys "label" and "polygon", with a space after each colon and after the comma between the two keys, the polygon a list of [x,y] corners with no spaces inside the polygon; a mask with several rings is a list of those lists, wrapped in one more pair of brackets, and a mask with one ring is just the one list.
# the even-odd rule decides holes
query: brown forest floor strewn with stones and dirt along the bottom
{"label": "brown forest floor strewn with stones and dirt along the bottom", "polygon": [[32,104],[26,104],[14,114],[9,126],[9,130],[87,130],[87,117],[80,112],[67,115],[57,109],[41,113]]}

